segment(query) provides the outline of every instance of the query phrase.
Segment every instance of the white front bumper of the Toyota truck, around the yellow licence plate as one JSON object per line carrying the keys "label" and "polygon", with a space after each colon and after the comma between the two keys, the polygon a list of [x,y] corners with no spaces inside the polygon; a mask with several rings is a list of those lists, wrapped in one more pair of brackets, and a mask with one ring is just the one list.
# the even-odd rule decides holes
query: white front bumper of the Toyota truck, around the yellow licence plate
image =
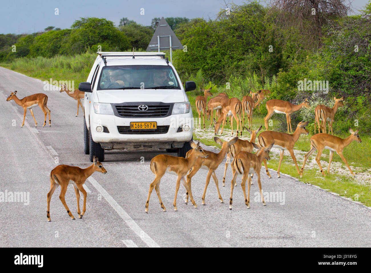
{"label": "white front bumper of the Toyota truck, around the yellow licence plate", "polygon": [[[131,130],[132,118],[95,114],[90,117],[92,139],[103,149],[157,150],[183,147],[193,136],[190,113],[163,118],[135,118],[135,122],[156,122],[155,130]],[[98,132],[100,131],[100,132]],[[108,133],[109,132],[109,133]]]}

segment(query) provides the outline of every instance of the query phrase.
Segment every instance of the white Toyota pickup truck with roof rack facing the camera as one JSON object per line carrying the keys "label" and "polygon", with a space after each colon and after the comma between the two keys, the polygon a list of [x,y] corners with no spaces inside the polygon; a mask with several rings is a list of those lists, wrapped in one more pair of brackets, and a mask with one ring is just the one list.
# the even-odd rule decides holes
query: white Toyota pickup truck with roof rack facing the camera
{"label": "white Toyota pickup truck with roof rack facing the camera", "polygon": [[162,52],[97,52],[86,82],[84,152],[104,161],[104,150],[163,150],[185,157],[193,115],[174,66]]}

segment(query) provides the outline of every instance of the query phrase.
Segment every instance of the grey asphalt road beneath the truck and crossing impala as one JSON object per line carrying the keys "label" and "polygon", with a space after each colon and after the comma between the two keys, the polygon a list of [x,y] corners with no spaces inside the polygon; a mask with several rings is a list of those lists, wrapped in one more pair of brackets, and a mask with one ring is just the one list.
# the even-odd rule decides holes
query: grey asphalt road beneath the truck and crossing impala
{"label": "grey asphalt road beneath the truck and crossing impala", "polygon": [[[33,108],[38,127],[35,129],[27,111],[21,128],[22,107],[6,101],[14,90],[19,98],[44,92],[49,98],[52,126],[43,128],[43,113]],[[57,188],[50,202],[52,221],[47,222],[50,171],[58,164],[82,168],[90,165],[88,155],[83,153],[83,113],[75,117],[77,102],[64,92],[43,91],[42,81],[4,68],[0,68],[0,105],[0,196],[5,191],[29,193],[28,205],[0,198],[0,247],[371,246],[370,209],[283,174],[268,179],[264,169],[263,191],[281,194],[279,202],[270,198],[264,207],[260,200],[255,201],[259,188],[254,178],[251,208],[246,208],[237,183],[233,210],[229,210],[232,171],[229,167],[226,186],[221,186],[225,161],[216,171],[224,204],[219,202],[211,180],[206,205],[201,205],[207,173],[201,169],[192,180],[198,208],[184,204],[185,190],[181,185],[178,211],[173,210],[176,176],[165,174],[160,192],[167,212],[162,212],[153,191],[146,214],[145,201],[154,179],[149,164],[161,152],[106,152],[103,165],[108,173],[96,172],[85,183],[89,190],[83,218],[78,218],[76,196],[70,185],[66,202],[76,220],[66,213]],[[82,194],[80,201],[82,209]]]}

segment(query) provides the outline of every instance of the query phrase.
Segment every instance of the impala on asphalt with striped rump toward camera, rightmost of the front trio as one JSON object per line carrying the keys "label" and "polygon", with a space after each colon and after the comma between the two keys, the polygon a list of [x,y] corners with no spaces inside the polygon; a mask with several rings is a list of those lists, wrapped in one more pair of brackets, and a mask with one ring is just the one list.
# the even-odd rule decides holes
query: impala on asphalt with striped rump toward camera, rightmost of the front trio
{"label": "impala on asphalt with striped rump toward camera, rightmost of the front trio", "polygon": [[[263,205],[265,204],[264,197],[263,197],[263,191],[262,191],[262,184],[260,183],[260,169],[262,168],[262,161],[269,160],[269,151],[272,149],[274,143],[270,144],[269,146],[260,148],[255,143],[253,143],[253,146],[259,150],[256,154],[249,153],[249,152],[239,152],[236,157],[234,157],[232,161],[232,173],[233,178],[231,181],[231,196],[229,198],[229,209],[232,210],[232,195],[233,195],[233,188],[234,184],[236,183],[237,175],[242,175],[242,191],[243,195],[245,197],[245,204],[247,208],[250,208],[250,186],[251,186],[251,175],[253,173],[256,173],[257,176],[257,183],[259,185],[259,191],[260,191],[260,198],[263,202]],[[247,198],[246,198],[246,179],[247,181]]]}

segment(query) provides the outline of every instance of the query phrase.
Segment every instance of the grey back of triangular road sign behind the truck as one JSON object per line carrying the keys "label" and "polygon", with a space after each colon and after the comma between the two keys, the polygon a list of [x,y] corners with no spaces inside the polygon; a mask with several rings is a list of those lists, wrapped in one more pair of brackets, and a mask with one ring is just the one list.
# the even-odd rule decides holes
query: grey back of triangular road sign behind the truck
{"label": "grey back of triangular road sign behind the truck", "polygon": [[[183,45],[175,36],[173,30],[166,22],[165,18],[162,17],[160,22],[157,25],[155,33],[151,39],[150,44],[147,47],[146,51],[158,51],[158,37],[160,36],[160,51],[162,50],[170,50],[170,39],[169,36],[171,35],[171,49],[183,49]],[[165,37],[163,37],[165,36]]]}

